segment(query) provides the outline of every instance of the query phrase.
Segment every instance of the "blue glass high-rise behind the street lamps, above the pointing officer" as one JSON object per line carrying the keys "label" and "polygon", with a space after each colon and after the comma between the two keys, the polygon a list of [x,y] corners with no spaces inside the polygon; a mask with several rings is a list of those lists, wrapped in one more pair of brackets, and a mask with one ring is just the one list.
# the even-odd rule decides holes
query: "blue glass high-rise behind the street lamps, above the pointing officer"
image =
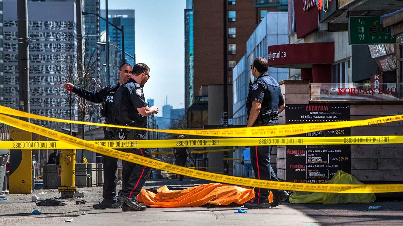
{"label": "blue glass high-rise behind the street lamps, above the pointing officer", "polygon": [[[135,56],[135,10],[133,9],[125,9],[125,10],[108,10],[108,18],[109,22],[113,23],[116,27],[124,26],[124,42],[125,42],[125,52],[130,55]],[[101,16],[105,16],[105,10],[101,10]],[[104,31],[106,29],[106,24],[104,21],[101,23],[101,30]],[[114,27],[109,25],[109,38],[110,41],[114,41],[117,43],[119,48],[122,48],[122,33],[116,30]],[[114,48],[114,47],[110,47]],[[131,64],[132,66],[135,64],[135,61],[129,56],[125,55],[126,63]]]}

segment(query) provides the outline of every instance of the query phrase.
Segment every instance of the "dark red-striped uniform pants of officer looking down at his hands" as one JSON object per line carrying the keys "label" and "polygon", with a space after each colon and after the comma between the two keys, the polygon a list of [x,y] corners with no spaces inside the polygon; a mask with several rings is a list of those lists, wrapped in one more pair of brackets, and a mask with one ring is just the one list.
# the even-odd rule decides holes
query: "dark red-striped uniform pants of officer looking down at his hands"
{"label": "dark red-striped uniform pants of officer looking down at his hands", "polygon": [[[134,138],[128,138],[128,134],[125,133],[125,140],[145,140],[145,136],[141,134],[134,134]],[[115,137],[116,138],[116,137]],[[148,148],[139,149],[121,149],[123,152],[129,152],[133,154],[138,154],[147,158],[153,158],[151,151]],[[123,161],[123,171],[122,171],[122,190],[120,194],[135,198],[140,193],[145,181],[150,175],[152,168],[147,166],[142,166],[135,164],[133,162]]]}

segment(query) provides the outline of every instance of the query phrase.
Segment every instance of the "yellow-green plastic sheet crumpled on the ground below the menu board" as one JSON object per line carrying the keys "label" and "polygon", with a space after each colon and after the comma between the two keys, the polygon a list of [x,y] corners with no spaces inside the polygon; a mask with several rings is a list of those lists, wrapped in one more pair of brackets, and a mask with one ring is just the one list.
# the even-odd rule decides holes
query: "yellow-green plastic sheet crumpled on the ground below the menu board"
{"label": "yellow-green plastic sheet crumpled on the ground below the menu board", "polygon": [[[362,185],[363,183],[359,182],[351,174],[339,170],[330,181],[325,181],[322,184]],[[375,199],[374,193],[351,194],[297,191],[290,196],[290,203],[370,203],[374,202]]]}

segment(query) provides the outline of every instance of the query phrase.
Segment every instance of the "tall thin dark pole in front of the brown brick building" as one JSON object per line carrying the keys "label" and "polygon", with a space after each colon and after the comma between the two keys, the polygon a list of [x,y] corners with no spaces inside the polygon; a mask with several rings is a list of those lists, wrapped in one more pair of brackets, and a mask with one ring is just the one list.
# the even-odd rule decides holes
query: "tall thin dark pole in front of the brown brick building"
{"label": "tall thin dark pole in front of the brown brick building", "polygon": [[[223,37],[223,39],[222,39],[222,42],[223,42],[223,47],[222,47],[222,49],[223,49],[223,55],[222,55],[222,57],[224,58],[223,59],[223,62],[224,62],[224,76],[223,76],[223,80],[222,80],[222,86],[223,86],[223,90],[224,90],[224,93],[223,93],[223,95],[224,95],[224,99],[223,99],[223,101],[224,101],[224,113],[226,112],[226,113],[228,113],[228,86],[227,86],[227,82],[228,82],[228,45],[227,45],[227,0],[224,0],[223,1],[224,2],[224,4],[223,4],[223,9],[222,9],[222,17],[223,17],[223,20],[222,20],[222,27],[223,27],[223,35],[222,35],[222,37]],[[224,152],[224,158],[228,158],[229,157],[229,153],[228,153],[228,151],[225,151]],[[228,164],[228,161],[226,161],[226,160],[223,160],[224,161],[224,175],[229,175],[229,164]]]}

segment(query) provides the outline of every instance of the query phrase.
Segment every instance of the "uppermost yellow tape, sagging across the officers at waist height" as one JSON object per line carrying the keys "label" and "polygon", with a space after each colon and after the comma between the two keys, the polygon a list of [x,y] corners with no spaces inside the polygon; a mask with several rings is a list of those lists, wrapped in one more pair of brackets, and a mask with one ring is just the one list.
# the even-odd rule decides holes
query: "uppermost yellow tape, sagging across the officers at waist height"
{"label": "uppermost yellow tape, sagging across the officers at waist height", "polygon": [[121,125],[109,125],[102,123],[91,123],[86,121],[70,121],[66,119],[55,119],[31,113],[18,111],[0,105],[0,113],[6,115],[13,115],[18,117],[25,117],[31,119],[39,119],[46,121],[55,121],[61,123],[76,123],[84,125],[107,126],[125,129],[141,129],[147,131],[157,131],[171,134],[187,134],[195,136],[215,136],[215,137],[276,137],[276,136],[290,136],[297,134],[305,134],[314,131],[325,129],[338,129],[345,127],[355,127],[362,125],[374,125],[379,123],[388,123],[393,121],[403,120],[403,115],[393,115],[378,117],[373,119],[357,120],[357,121],[320,121],[320,123],[305,123],[305,124],[291,124],[291,125],[273,125],[273,126],[258,126],[258,127],[240,127],[240,128],[225,128],[225,129],[147,129],[139,127],[129,127]]}

